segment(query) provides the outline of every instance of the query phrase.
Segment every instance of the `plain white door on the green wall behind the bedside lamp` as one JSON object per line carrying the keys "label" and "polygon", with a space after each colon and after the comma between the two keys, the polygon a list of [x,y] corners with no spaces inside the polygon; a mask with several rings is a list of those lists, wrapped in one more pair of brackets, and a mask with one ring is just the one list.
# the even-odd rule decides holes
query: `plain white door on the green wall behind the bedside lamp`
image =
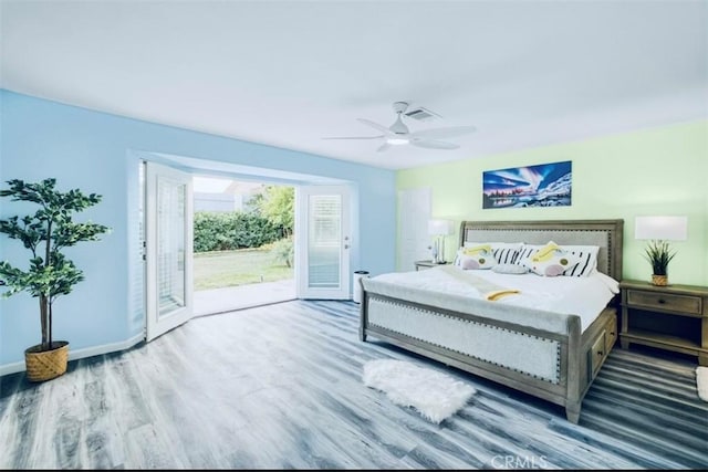
{"label": "plain white door on the green wall behind the bedside lamp", "polygon": [[414,271],[415,261],[433,256],[428,234],[430,204],[429,187],[398,191],[399,271]]}

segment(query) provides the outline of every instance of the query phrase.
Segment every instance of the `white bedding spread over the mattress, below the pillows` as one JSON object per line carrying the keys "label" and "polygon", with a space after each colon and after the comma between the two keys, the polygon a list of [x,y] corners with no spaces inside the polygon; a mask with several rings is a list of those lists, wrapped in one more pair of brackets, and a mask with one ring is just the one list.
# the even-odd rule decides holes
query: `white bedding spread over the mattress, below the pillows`
{"label": "white bedding spread over the mattress, below the pillows", "polygon": [[442,265],[424,271],[392,272],[373,279],[480,300],[486,298],[492,289],[518,291],[490,303],[575,314],[581,317],[582,331],[620,292],[618,282],[598,271],[586,277],[544,277],[534,273],[500,274],[490,270],[465,271],[457,265]]}

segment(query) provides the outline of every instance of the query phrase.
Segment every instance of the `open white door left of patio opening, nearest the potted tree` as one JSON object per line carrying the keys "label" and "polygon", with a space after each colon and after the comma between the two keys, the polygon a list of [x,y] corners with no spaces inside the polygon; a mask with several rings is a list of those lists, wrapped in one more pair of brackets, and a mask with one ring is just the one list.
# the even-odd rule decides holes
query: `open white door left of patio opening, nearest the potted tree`
{"label": "open white door left of patio opening, nearest the potted tree", "polygon": [[149,342],[194,314],[191,176],[148,161],[145,199]]}

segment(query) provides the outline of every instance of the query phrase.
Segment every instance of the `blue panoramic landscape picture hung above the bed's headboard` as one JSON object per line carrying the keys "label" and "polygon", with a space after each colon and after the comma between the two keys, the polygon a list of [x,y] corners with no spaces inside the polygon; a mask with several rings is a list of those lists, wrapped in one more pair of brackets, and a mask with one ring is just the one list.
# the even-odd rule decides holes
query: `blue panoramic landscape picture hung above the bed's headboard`
{"label": "blue panoramic landscape picture hung above the bed's headboard", "polygon": [[572,162],[482,172],[482,208],[569,207]]}

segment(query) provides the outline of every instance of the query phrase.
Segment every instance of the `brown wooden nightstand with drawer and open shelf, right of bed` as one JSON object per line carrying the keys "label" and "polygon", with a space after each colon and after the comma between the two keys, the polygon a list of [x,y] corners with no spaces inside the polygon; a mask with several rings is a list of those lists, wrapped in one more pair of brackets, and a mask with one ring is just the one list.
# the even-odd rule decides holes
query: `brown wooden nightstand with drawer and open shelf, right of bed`
{"label": "brown wooden nightstand with drawer and open shelf, right of bed", "polygon": [[698,356],[708,366],[708,287],[622,281],[620,344],[643,344]]}

